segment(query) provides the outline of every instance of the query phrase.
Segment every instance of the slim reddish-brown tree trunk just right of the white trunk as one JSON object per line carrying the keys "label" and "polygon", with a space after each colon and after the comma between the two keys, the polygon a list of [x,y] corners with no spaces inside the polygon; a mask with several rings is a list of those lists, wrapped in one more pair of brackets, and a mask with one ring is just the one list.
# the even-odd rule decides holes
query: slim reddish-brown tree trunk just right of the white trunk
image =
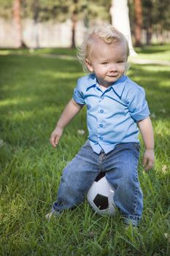
{"label": "slim reddish-brown tree trunk just right of the white trunk", "polygon": [[142,45],[142,3],[141,0],[134,0],[134,37],[135,46]]}

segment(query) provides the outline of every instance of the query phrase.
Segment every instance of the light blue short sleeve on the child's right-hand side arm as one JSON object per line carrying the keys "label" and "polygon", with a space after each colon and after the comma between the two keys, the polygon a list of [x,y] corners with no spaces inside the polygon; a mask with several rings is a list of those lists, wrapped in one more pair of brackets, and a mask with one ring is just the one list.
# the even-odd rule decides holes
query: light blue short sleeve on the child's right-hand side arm
{"label": "light blue short sleeve on the child's right-hand side arm", "polygon": [[150,116],[150,110],[142,87],[136,85],[128,91],[127,104],[129,113],[135,121],[140,121]]}

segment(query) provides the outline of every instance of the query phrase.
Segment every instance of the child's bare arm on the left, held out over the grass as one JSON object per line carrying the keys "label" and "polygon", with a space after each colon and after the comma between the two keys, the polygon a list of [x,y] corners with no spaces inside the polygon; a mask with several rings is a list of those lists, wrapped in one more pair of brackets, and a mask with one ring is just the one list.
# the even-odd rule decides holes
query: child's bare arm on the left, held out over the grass
{"label": "child's bare arm on the left, held out over the grass", "polygon": [[58,123],[50,137],[50,143],[54,148],[58,145],[58,141],[61,138],[64,127],[69,124],[72,118],[76,116],[82,107],[83,105],[78,105],[74,99],[71,99],[66,105],[66,108],[64,108],[63,113],[61,114],[61,117],[59,118]]}

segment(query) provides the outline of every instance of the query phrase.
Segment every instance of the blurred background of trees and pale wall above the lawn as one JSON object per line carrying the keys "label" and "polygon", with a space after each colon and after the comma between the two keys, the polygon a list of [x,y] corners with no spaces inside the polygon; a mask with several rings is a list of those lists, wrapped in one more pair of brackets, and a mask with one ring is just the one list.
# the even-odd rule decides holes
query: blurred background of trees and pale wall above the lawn
{"label": "blurred background of trees and pale wall above the lawn", "polygon": [[125,34],[131,52],[170,42],[169,0],[0,0],[0,48],[74,48],[104,22]]}

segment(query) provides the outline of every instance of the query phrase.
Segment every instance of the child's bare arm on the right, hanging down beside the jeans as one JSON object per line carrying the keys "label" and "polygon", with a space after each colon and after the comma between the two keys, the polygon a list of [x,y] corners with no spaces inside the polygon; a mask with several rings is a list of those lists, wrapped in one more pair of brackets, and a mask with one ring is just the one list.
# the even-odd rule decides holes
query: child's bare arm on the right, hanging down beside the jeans
{"label": "child's bare arm on the right, hanging down beside the jeans", "polygon": [[144,157],[143,157],[143,165],[145,166],[145,170],[149,170],[153,167],[155,162],[154,155],[154,137],[153,137],[153,129],[152,122],[150,117],[144,118],[142,121],[138,123],[140,132],[142,134],[142,138],[144,140]]}

